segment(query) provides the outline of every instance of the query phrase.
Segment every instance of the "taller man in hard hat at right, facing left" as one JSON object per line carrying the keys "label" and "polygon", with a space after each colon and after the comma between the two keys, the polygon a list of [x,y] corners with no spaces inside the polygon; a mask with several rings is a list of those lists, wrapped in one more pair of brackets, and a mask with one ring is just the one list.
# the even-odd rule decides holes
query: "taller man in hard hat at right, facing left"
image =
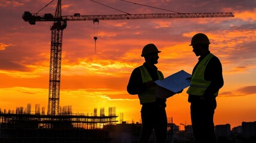
{"label": "taller man in hard hat at right, facing left", "polygon": [[215,143],[214,110],[216,97],[224,85],[220,60],[209,51],[209,39],[203,33],[193,36],[190,46],[199,57],[193,69],[189,94],[193,135],[199,143]]}

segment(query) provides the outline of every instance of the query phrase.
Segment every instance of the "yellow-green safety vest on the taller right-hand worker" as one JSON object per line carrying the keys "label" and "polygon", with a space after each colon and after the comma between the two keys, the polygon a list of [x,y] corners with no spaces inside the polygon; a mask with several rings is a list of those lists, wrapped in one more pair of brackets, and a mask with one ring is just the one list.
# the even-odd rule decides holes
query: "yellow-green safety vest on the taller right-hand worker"
{"label": "yellow-green safety vest on the taller right-hand worker", "polygon": [[[214,55],[210,53],[203,58],[201,63],[198,64],[192,75],[189,89],[187,89],[187,94],[203,95],[205,93],[206,89],[211,84],[211,81],[207,81],[204,78],[205,68],[212,57],[214,57]],[[214,95],[217,96],[218,92],[216,92]]]}

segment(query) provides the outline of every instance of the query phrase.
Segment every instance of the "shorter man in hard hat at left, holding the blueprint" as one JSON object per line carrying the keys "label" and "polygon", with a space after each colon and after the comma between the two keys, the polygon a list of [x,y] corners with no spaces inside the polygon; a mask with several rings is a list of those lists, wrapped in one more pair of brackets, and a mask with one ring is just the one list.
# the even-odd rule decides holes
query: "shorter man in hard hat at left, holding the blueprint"
{"label": "shorter man in hard hat at left, holding the blueprint", "polygon": [[144,46],[141,57],[145,63],[135,68],[129,79],[127,91],[131,95],[137,95],[140,100],[142,129],[139,142],[149,142],[154,129],[156,143],[166,141],[167,117],[165,112],[166,98],[156,97],[155,80],[162,80],[164,76],[155,66],[158,63],[158,53],[161,52],[153,44]]}

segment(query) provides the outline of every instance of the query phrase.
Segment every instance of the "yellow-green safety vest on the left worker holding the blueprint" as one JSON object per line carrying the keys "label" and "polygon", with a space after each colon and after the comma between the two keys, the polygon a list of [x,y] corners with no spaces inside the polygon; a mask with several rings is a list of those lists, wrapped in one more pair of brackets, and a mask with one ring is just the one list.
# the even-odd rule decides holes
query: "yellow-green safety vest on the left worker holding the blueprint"
{"label": "yellow-green safety vest on the left worker holding the blueprint", "polygon": [[[152,80],[152,77],[149,74],[149,71],[147,71],[146,67],[140,66],[140,73],[142,82],[146,83]],[[159,80],[164,79],[164,75],[161,71],[158,72],[158,78]],[[156,101],[156,87],[148,88],[146,91],[144,91],[141,94],[138,94],[138,98],[140,99],[140,104],[147,103],[147,102],[155,102]]]}

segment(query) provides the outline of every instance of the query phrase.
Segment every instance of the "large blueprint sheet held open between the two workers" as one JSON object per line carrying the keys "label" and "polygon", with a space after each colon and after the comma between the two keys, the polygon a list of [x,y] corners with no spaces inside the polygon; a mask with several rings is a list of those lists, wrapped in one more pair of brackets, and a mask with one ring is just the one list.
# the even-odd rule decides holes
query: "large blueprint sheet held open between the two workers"
{"label": "large blueprint sheet held open between the two workers", "polygon": [[187,80],[188,77],[191,77],[191,74],[181,70],[163,80],[156,80],[155,83],[169,91],[177,93],[190,86],[190,80]]}

